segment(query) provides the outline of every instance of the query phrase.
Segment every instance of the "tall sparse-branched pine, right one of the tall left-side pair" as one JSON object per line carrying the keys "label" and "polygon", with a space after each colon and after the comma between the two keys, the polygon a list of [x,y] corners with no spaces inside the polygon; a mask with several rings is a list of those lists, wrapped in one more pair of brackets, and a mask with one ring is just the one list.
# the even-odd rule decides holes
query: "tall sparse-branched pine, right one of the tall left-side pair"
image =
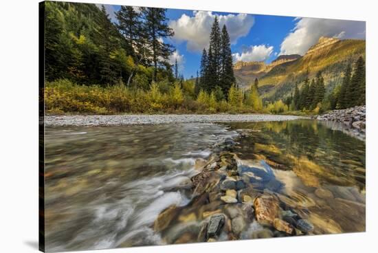
{"label": "tall sparse-branched pine, right one of the tall left-side pair", "polygon": [[168,60],[173,52],[173,46],[164,43],[162,39],[173,36],[175,33],[168,26],[166,18],[166,9],[162,8],[144,8],[142,9],[144,19],[143,32],[146,36],[146,42],[151,48],[153,59],[153,80],[156,81],[157,67],[162,61]]}

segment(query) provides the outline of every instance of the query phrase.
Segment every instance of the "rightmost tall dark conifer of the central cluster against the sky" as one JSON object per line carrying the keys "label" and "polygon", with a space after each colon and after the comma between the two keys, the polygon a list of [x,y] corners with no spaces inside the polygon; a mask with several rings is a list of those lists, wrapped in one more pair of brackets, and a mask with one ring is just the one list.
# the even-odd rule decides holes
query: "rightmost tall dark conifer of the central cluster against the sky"
{"label": "rightmost tall dark conifer of the central cluster against the sky", "polygon": [[228,36],[225,25],[223,25],[221,34],[221,73],[219,76],[219,83],[223,94],[228,94],[228,90],[232,84],[235,83],[230,36]]}

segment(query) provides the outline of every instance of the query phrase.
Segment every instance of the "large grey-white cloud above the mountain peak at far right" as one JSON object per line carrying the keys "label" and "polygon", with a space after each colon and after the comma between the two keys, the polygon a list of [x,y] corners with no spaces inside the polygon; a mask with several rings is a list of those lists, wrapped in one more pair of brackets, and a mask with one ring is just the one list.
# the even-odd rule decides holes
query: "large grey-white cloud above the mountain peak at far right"
{"label": "large grey-white cloud above the mountain peak at far right", "polygon": [[281,44],[280,54],[305,54],[321,36],[365,39],[365,22],[337,19],[296,18],[295,28]]}

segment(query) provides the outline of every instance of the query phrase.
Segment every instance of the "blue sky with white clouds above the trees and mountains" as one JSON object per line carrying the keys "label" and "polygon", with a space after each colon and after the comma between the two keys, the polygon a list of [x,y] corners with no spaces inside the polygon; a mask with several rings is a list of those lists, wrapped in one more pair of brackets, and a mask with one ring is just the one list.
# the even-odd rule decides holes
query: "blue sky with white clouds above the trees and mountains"
{"label": "blue sky with white clouds above the trees and mountains", "polygon": [[[118,5],[105,5],[115,21]],[[170,63],[179,63],[185,78],[196,76],[203,47],[208,47],[214,17],[230,34],[231,49],[236,61],[265,61],[270,63],[280,54],[303,55],[320,36],[339,39],[365,39],[365,22],[336,19],[280,17],[227,12],[205,12],[168,9],[168,25],[175,36],[164,41],[175,46]]]}

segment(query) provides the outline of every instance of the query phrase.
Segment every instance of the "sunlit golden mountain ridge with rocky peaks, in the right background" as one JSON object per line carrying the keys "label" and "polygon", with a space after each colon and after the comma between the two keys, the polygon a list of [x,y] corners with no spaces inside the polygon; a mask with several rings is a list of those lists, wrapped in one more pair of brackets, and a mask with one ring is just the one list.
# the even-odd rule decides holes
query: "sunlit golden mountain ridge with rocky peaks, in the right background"
{"label": "sunlit golden mountain ridge with rocky peaks, in the right background", "polygon": [[263,98],[277,100],[293,92],[295,83],[302,85],[304,76],[315,77],[321,71],[328,90],[341,84],[346,65],[354,63],[359,56],[365,57],[366,42],[363,40],[320,37],[318,43],[300,56],[278,56],[270,64],[263,62],[238,62],[234,65],[236,83],[249,89],[258,78]]}

